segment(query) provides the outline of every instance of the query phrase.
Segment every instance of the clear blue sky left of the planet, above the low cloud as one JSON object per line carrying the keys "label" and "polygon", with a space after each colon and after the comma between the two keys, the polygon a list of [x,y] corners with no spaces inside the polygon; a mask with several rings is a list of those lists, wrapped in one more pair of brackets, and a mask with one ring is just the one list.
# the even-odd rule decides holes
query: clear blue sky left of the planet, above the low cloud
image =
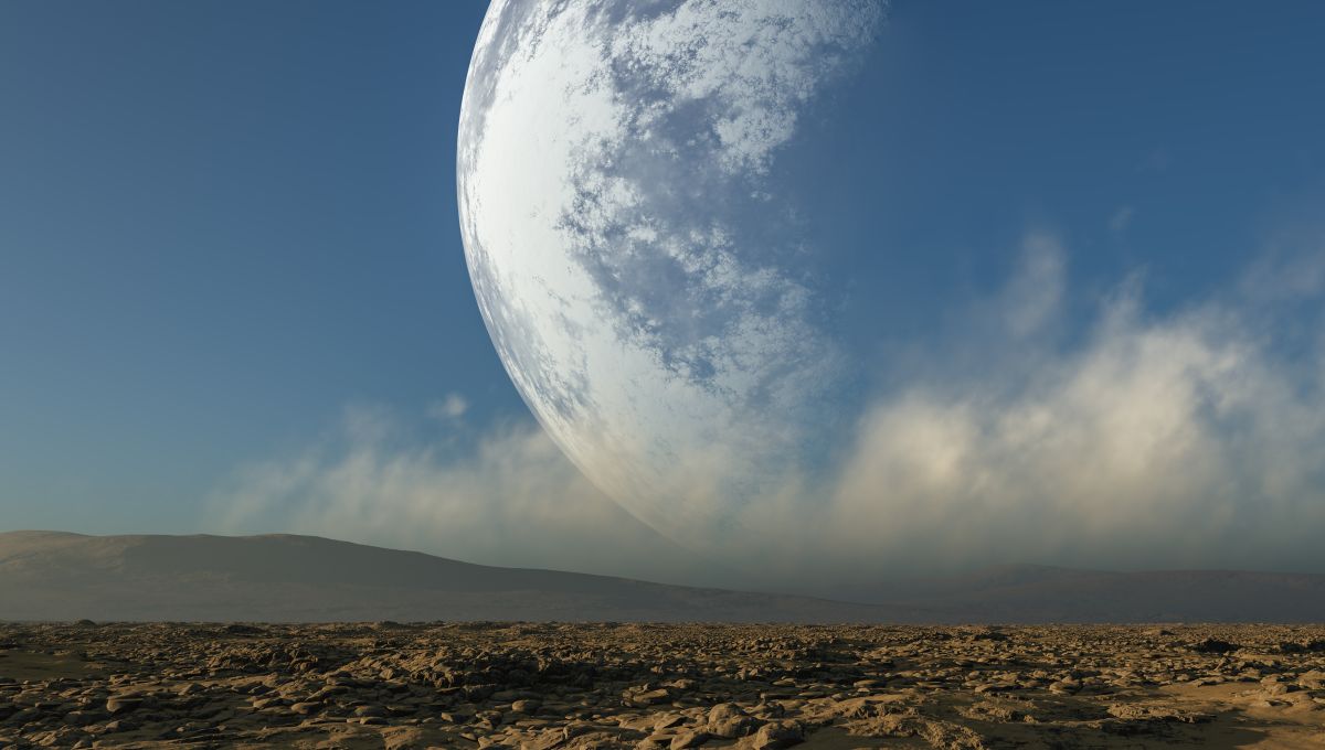
{"label": "clear blue sky left of the planet, above the low cloud", "polygon": [[346,403],[519,409],[469,291],[480,3],[0,8],[0,512],[188,529]]}

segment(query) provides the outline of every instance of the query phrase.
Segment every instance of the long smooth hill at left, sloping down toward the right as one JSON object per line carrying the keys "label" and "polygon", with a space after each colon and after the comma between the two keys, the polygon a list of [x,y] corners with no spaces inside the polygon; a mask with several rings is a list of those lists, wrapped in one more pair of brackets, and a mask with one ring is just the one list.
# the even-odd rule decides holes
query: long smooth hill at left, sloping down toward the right
{"label": "long smooth hill at left, sloping down toward the right", "polygon": [[0,534],[5,620],[864,622],[889,615],[869,604],[492,567],[321,537]]}

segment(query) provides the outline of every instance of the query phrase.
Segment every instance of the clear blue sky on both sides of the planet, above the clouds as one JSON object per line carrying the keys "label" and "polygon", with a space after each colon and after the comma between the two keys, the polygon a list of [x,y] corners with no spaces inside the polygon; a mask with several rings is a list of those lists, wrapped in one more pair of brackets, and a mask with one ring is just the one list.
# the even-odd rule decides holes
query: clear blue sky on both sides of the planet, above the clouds
{"label": "clear blue sky on both sides of the planet, above the clouds", "polygon": [[[347,410],[429,460],[529,422],[456,217],[484,11],[0,4],[0,528],[216,530],[236,472]],[[1163,315],[1321,247],[1322,38],[1316,3],[900,0],[841,94],[859,140],[786,168],[831,176],[819,216],[877,206],[828,245],[905,249],[863,337],[921,344],[1028,231],[1071,247],[1069,327],[1134,274]]]}

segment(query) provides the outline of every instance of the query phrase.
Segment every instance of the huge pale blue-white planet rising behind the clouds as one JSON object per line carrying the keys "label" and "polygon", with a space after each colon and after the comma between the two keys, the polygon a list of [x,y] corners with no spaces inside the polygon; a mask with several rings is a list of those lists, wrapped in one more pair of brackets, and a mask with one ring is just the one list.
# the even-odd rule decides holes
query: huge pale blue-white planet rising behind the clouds
{"label": "huge pale blue-white planet rising behind the clouds", "polygon": [[861,362],[816,238],[825,112],[877,0],[494,0],[461,108],[473,288],[521,396],[665,534],[831,462]]}

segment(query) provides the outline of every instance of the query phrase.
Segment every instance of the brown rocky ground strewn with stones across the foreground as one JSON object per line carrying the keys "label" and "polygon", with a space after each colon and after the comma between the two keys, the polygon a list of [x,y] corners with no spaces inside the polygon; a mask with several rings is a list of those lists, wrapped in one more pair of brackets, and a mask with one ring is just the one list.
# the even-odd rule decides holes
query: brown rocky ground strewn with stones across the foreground
{"label": "brown rocky ground strewn with stones across the foreground", "polygon": [[1325,747],[1325,627],[0,624],[0,747]]}

